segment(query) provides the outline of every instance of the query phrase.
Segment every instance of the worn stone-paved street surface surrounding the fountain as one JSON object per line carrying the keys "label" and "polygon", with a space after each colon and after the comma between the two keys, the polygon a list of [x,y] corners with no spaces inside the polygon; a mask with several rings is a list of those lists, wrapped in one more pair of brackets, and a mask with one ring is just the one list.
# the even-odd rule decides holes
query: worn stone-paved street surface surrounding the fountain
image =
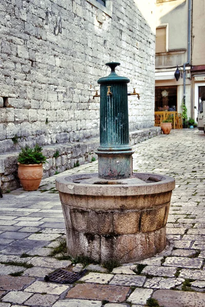
{"label": "worn stone-paved street surface surrounding the fountain", "polygon": [[110,272],[91,264],[75,284],[45,282],[55,269],[83,267],[50,255],[65,235],[54,181],[65,173],[96,172],[97,161],[76,167],[44,179],[37,191],[17,189],[0,199],[1,307],[140,307],[149,298],[165,307],[205,306],[205,135],[197,129],[172,130],[134,150],[134,170],[176,179],[166,250]]}

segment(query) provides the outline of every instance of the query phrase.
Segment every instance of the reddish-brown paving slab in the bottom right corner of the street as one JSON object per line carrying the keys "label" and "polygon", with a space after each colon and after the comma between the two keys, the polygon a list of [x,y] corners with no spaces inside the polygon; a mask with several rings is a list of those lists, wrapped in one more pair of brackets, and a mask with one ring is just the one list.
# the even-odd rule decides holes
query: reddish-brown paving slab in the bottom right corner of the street
{"label": "reddish-brown paving slab in the bottom right corner of the street", "polygon": [[204,307],[205,293],[157,290],[153,296],[164,307]]}

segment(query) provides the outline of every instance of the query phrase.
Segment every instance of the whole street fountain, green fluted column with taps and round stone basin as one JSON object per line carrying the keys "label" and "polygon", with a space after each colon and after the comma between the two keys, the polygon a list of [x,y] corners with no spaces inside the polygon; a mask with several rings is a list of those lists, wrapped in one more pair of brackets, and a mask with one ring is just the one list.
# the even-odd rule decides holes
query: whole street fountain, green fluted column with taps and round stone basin
{"label": "whole street fountain, green fluted column with taps and round stone basin", "polygon": [[[100,78],[100,146],[98,173],[56,179],[63,207],[68,253],[98,262],[132,262],[166,247],[166,223],[175,180],[152,173],[133,173],[129,145],[130,80],[118,76],[119,63]],[[97,95],[98,96],[98,95]],[[93,98],[95,98],[94,96]]]}

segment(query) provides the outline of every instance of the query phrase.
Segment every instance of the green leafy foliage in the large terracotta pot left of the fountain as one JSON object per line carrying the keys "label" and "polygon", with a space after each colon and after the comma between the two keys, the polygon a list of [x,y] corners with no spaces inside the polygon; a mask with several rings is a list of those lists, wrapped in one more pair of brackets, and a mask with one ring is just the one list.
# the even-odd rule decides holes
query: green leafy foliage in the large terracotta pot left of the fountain
{"label": "green leafy foliage in the large terracotta pot left of the fountain", "polygon": [[30,148],[29,146],[22,148],[22,152],[18,155],[18,162],[20,164],[44,164],[47,161],[43,155],[42,147],[36,144],[34,148]]}

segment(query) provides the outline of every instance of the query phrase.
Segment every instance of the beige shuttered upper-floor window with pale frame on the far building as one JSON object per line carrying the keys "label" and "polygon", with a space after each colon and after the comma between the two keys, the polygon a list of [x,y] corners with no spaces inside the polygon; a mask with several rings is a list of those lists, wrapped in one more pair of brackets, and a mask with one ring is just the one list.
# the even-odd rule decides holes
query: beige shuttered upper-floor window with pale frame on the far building
{"label": "beige shuttered upper-floor window with pale frame on the far building", "polygon": [[168,52],[168,25],[156,28],[156,53]]}

